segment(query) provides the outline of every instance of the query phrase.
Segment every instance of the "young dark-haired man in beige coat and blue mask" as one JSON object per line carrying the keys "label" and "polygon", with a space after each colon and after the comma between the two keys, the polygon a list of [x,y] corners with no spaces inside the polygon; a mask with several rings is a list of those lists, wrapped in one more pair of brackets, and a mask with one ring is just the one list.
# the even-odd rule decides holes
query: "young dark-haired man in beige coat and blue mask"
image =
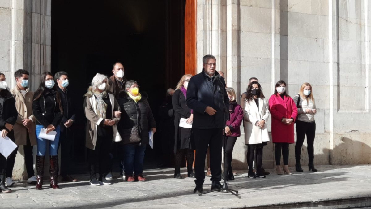
{"label": "young dark-haired man in beige coat and blue mask", "polygon": [[[22,69],[17,70],[14,73],[17,83],[14,89],[12,89],[10,92],[16,99],[16,109],[18,112],[18,118],[13,127],[15,143],[18,146],[23,145],[24,163],[26,164],[26,170],[29,178],[27,183],[36,184],[32,153],[33,145],[36,145],[35,117],[32,114],[33,92],[28,88],[28,76],[28,71]],[[12,171],[17,150],[18,148],[16,148],[16,150],[10,154],[7,160],[7,178],[5,181],[8,186],[12,186],[14,184],[14,181],[12,180]]]}

